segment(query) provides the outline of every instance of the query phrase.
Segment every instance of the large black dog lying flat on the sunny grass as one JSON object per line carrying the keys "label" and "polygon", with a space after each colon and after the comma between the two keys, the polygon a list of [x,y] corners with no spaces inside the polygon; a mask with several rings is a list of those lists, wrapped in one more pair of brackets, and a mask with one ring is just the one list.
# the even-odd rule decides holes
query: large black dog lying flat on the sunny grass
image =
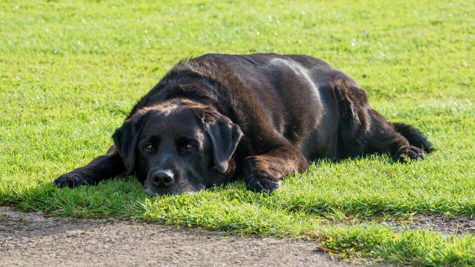
{"label": "large black dog lying flat on the sunny grass", "polygon": [[308,161],[433,150],[411,126],[389,123],[358,84],[306,55],[206,54],[177,63],[112,135],[107,154],[54,180],[95,184],[136,173],[150,194],[183,193],[243,176],[274,190]]}

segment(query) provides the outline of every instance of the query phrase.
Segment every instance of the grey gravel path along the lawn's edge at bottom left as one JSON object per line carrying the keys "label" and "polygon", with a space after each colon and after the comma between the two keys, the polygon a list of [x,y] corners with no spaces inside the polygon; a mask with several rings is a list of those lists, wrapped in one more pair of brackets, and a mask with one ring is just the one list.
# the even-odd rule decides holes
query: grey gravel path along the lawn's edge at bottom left
{"label": "grey gravel path along the lawn's edge at bottom left", "polygon": [[151,223],[73,221],[0,206],[1,266],[361,266],[332,260],[317,246]]}

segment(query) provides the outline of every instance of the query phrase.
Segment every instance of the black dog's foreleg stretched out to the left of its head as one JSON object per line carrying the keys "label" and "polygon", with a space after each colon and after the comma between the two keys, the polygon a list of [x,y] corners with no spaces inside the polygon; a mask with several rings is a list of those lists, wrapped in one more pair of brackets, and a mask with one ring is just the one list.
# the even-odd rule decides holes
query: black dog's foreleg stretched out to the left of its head
{"label": "black dog's foreleg stretched out to the left of its head", "polygon": [[57,177],[53,183],[58,187],[75,187],[82,184],[94,185],[101,180],[115,177],[125,172],[122,158],[115,145],[110,146],[105,155],[100,155],[87,165]]}

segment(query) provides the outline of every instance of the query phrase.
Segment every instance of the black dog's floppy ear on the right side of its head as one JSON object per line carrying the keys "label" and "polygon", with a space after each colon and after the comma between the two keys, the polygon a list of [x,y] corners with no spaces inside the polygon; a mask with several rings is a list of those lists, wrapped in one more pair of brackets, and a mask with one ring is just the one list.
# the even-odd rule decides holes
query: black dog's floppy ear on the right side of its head
{"label": "black dog's floppy ear on the right side of its head", "polygon": [[205,122],[205,130],[211,140],[214,164],[219,172],[225,172],[243,135],[242,131],[237,124],[222,115]]}

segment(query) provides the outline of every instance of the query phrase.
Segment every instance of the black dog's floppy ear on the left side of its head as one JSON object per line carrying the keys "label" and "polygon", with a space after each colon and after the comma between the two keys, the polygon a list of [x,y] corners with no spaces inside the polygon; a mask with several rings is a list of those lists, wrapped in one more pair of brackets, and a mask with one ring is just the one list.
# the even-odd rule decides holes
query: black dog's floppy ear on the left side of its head
{"label": "black dog's floppy ear on the left side of its head", "polygon": [[141,113],[133,114],[112,134],[115,147],[122,158],[127,175],[133,174],[135,171],[135,147],[138,135],[140,135],[142,116]]}

